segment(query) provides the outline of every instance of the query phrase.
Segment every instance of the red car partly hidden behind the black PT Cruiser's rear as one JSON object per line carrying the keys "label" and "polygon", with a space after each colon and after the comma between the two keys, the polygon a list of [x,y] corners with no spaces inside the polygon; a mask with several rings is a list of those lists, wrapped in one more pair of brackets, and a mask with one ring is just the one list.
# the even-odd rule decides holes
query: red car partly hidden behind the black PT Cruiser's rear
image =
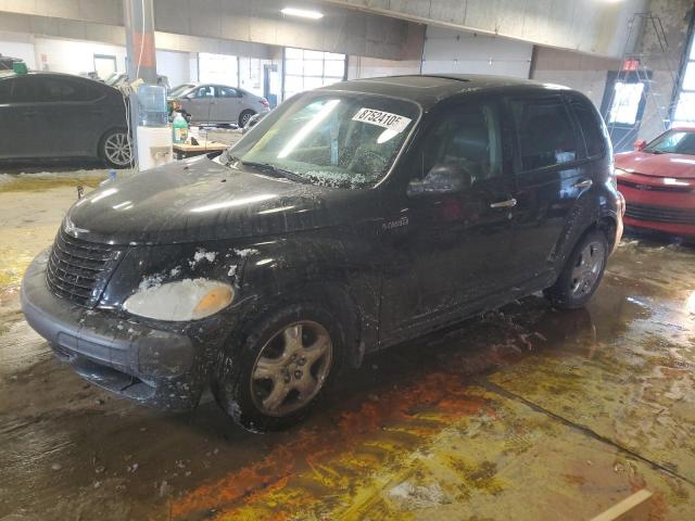
{"label": "red car partly hidden behind the black PT Cruiser's rear", "polygon": [[695,239],[695,128],[674,127],[616,154],[624,224]]}

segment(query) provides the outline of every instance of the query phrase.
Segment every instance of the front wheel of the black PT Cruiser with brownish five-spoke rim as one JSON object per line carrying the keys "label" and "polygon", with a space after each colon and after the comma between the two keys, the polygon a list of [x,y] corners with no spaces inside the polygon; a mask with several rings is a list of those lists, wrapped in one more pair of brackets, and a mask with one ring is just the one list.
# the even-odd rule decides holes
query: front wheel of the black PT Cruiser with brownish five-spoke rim
{"label": "front wheel of the black PT Cruiser with brownish five-spoke rim", "polygon": [[326,306],[307,303],[271,313],[247,331],[220,353],[212,381],[215,401],[252,432],[301,421],[340,370],[342,327]]}

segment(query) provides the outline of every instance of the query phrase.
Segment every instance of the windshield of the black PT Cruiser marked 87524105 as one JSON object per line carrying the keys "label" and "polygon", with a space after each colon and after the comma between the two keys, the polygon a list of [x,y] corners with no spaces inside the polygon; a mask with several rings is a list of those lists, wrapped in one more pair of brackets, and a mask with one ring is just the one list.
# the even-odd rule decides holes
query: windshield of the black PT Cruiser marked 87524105
{"label": "windshield of the black PT Cruiser marked 87524105", "polygon": [[274,111],[228,154],[303,182],[369,187],[387,174],[419,112],[381,96],[311,92]]}

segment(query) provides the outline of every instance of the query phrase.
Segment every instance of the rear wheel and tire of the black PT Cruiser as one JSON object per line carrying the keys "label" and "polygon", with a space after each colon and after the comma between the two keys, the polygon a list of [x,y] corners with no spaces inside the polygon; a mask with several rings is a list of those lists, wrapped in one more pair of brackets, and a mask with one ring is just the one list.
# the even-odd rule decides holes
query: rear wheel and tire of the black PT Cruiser
{"label": "rear wheel and tire of the black PT Cruiser", "polygon": [[608,240],[594,230],[585,233],[572,250],[554,285],[543,293],[555,307],[583,307],[601,283],[608,260]]}

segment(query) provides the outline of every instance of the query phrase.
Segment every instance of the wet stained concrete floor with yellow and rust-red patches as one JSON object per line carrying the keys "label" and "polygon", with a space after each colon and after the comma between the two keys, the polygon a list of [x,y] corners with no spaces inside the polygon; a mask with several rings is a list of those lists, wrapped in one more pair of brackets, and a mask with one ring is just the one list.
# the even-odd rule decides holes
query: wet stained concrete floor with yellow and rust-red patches
{"label": "wet stained concrete floor with yellow and rust-red patches", "polygon": [[539,297],[395,347],[302,425],[136,406],[54,360],[17,293],[74,186],[0,176],[0,519],[695,519],[695,250],[626,240],[591,305]]}

